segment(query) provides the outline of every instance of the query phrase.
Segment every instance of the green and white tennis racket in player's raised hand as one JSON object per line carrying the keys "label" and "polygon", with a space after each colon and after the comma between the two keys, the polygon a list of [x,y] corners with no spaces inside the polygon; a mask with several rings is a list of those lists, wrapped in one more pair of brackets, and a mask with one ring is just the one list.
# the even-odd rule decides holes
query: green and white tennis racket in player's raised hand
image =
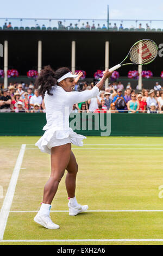
{"label": "green and white tennis racket in player's raised hand", "polygon": [[[124,65],[147,65],[153,62],[157,55],[158,46],[155,42],[150,39],[142,39],[135,42],[135,44],[130,48],[126,58],[124,58],[120,64],[109,69],[109,71],[112,72]],[[128,57],[130,59],[130,63],[122,64]]]}

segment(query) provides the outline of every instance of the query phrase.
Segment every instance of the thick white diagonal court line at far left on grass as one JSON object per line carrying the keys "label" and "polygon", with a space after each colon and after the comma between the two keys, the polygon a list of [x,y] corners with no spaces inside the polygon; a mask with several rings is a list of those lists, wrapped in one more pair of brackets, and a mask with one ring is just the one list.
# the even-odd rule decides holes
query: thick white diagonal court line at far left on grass
{"label": "thick white diagonal court line at far left on grass", "polygon": [[1,212],[0,212],[0,240],[3,239],[3,235],[4,235],[5,227],[6,227],[6,224],[7,224],[9,212],[10,212],[12,199],[14,197],[15,187],[16,187],[16,183],[17,183],[17,179],[18,179],[18,175],[19,175],[19,172],[20,172],[20,168],[21,168],[21,164],[22,164],[22,160],[23,160],[25,150],[26,150],[26,144],[22,144],[21,149],[20,149],[20,153],[18,154],[17,161],[16,161],[16,164],[15,164],[15,167],[14,167],[11,179],[10,179],[10,184],[8,186],[8,190],[7,190],[7,193],[5,195],[4,202],[3,202],[3,205],[2,205],[2,208],[1,208]]}

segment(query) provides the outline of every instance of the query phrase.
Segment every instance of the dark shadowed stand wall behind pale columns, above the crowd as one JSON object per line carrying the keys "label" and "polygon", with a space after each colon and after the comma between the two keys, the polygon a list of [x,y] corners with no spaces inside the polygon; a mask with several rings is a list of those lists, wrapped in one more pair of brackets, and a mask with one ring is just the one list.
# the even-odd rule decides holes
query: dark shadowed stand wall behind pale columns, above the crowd
{"label": "dark shadowed stand wall behind pale columns, above the crowd", "polygon": [[[120,63],[130,47],[140,39],[152,39],[157,45],[163,44],[162,32],[124,31],[0,31],[0,44],[8,40],[9,69],[15,68],[20,75],[29,69],[37,69],[37,42],[42,41],[42,65],[71,68],[71,42],[76,41],[76,69],[87,72],[92,77],[97,69],[104,69],[105,41],[109,41],[109,66]],[[1,58],[0,68],[3,68]],[[129,69],[137,66],[124,66],[120,76],[127,76]],[[143,67],[159,77],[162,71],[162,57]]]}

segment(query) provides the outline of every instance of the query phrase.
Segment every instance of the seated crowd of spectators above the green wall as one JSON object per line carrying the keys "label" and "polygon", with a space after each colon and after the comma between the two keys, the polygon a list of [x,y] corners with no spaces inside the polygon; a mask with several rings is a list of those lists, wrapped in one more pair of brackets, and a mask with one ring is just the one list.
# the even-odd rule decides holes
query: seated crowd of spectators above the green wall
{"label": "seated crowd of spectators above the green wall", "polygon": [[[91,90],[97,82],[80,82],[74,90]],[[7,89],[0,84],[0,112],[45,113],[43,96],[33,82],[10,83]],[[137,88],[137,87],[136,87]],[[154,89],[137,90],[128,83],[109,83],[96,97],[73,105],[78,113],[163,113],[163,88],[156,82]]]}

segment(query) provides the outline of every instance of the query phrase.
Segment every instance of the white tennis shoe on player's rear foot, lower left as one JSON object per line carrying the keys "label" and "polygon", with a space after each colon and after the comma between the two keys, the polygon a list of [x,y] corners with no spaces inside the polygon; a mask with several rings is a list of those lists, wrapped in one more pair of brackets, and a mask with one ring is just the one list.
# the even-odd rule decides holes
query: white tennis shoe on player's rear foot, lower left
{"label": "white tennis shoe on player's rear foot, lower left", "polygon": [[53,223],[51,220],[51,217],[48,215],[41,215],[39,212],[34,217],[34,221],[40,225],[42,225],[45,228],[48,229],[58,229],[60,228],[59,225]]}

